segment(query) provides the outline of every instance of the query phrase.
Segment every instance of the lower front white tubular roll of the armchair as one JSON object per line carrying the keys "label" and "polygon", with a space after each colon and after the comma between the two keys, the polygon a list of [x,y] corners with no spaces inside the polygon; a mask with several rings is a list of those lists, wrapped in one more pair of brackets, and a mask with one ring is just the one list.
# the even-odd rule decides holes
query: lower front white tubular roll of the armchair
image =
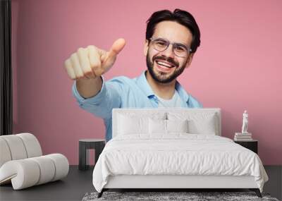
{"label": "lower front white tubular roll of the armchair", "polygon": [[62,154],[6,162],[0,168],[0,184],[11,180],[14,190],[56,181],[68,174],[68,159]]}

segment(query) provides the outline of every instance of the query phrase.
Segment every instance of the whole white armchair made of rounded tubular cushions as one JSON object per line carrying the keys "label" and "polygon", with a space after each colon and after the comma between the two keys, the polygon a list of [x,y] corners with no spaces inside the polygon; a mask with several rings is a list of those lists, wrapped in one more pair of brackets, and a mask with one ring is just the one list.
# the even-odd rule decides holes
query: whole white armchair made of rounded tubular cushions
{"label": "whole white armchair made of rounded tubular cushions", "polygon": [[0,136],[0,185],[28,188],[56,181],[68,174],[68,159],[63,154],[42,155],[35,135],[21,133]]}

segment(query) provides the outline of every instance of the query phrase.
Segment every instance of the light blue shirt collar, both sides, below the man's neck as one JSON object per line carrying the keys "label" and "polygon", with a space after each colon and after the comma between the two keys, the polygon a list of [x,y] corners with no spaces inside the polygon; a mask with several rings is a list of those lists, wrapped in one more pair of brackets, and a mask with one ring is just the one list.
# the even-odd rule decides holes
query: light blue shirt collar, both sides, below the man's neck
{"label": "light blue shirt collar, both sides, below the man's neck", "polygon": [[[152,87],[149,85],[147,78],[146,78],[146,71],[143,71],[142,74],[137,78],[137,85],[141,88],[147,97],[154,97],[154,92]],[[181,99],[184,99],[186,102],[189,100],[189,95],[185,91],[185,89],[178,83],[176,80],[176,91]]]}

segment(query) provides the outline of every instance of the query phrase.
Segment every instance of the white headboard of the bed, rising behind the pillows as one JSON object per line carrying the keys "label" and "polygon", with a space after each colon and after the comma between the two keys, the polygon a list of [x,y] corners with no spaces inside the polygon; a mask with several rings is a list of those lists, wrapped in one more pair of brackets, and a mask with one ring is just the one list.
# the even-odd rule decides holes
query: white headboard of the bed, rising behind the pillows
{"label": "white headboard of the bed, rising behind the pillows", "polygon": [[113,109],[112,111],[112,131],[113,138],[118,135],[118,115],[123,114],[125,116],[142,116],[142,117],[150,117],[154,116],[154,114],[164,114],[166,119],[168,116],[210,116],[214,115],[214,123],[215,123],[215,134],[221,136],[221,109],[219,108],[202,108],[202,109],[190,109],[190,108],[118,108]]}

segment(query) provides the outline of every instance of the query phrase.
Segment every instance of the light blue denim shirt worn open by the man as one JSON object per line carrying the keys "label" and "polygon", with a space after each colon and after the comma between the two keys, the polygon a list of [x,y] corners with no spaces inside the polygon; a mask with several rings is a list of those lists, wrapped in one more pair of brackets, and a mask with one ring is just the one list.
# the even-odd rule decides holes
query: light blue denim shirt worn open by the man
{"label": "light blue denim shirt worn open by the man", "polygon": [[[111,111],[113,108],[157,108],[158,98],[147,82],[144,71],[137,78],[118,76],[104,81],[102,76],[102,89],[97,95],[83,98],[78,93],[76,84],[73,83],[73,95],[79,106],[86,111],[104,119],[106,126],[106,141],[112,138]],[[183,100],[184,108],[202,108],[202,104],[189,95],[176,81],[176,91]]]}

